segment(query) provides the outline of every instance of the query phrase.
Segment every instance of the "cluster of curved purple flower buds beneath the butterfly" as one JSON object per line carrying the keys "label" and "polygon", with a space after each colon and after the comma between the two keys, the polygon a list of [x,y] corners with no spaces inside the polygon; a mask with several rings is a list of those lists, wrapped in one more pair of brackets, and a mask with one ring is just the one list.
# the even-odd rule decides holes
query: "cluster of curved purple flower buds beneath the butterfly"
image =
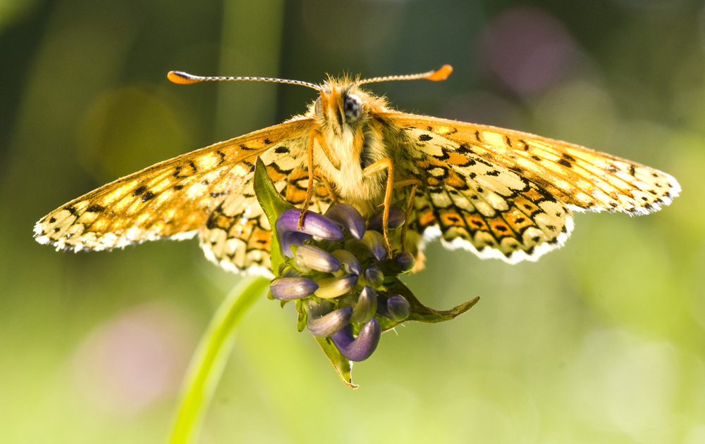
{"label": "cluster of curved purple flower buds beneath the butterfly", "polygon": [[[330,338],[348,360],[365,360],[379,343],[378,317],[398,323],[411,313],[409,300],[389,294],[386,284],[409,272],[414,257],[386,248],[381,213],[368,223],[352,205],[338,203],[325,215],[307,211],[299,227],[300,215],[290,208],[276,219],[284,262],[271,296],[296,300],[300,329]],[[392,207],[389,229],[404,222],[403,210]]]}

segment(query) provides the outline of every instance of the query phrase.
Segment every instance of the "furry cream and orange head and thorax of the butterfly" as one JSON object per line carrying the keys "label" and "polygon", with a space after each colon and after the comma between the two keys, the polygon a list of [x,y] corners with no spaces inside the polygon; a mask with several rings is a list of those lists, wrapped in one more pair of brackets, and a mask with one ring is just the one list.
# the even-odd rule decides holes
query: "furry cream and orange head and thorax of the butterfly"
{"label": "furry cream and orange head and thorax of the butterfly", "polygon": [[364,175],[366,167],[390,156],[374,118],[387,111],[384,104],[384,99],[360,91],[355,83],[329,81],[309,109],[315,122],[312,131],[320,134],[314,137],[314,165],[338,198],[363,215],[372,214],[384,197],[386,171]]}

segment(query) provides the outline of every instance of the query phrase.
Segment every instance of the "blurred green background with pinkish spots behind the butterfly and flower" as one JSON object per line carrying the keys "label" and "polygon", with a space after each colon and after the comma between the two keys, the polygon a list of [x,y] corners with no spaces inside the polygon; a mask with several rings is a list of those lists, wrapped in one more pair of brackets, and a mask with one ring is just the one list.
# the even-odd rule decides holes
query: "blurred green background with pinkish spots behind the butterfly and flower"
{"label": "blurred green background with pinkish spots behind the butterfly and flower", "polygon": [[65,253],[32,240],[121,175],[305,111],[309,82],[535,132],[674,175],[646,217],[578,214],[536,263],[427,249],[407,324],[351,391],[293,307],[240,324],[200,443],[705,443],[705,7],[691,0],[0,0],[0,441],[159,443],[195,344],[240,279],[195,241]]}

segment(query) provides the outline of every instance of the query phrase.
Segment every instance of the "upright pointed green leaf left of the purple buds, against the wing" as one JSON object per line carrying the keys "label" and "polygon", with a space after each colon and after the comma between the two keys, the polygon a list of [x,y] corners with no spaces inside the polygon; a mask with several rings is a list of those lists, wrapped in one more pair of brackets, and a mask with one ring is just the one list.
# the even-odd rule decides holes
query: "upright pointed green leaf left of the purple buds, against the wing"
{"label": "upright pointed green leaf left of the purple buds, against the wing", "polygon": [[262,207],[269,226],[271,227],[271,242],[269,243],[269,258],[271,259],[271,272],[274,276],[279,276],[279,266],[284,262],[281,248],[279,248],[278,237],[276,236],[276,219],[294,205],[288,203],[274,187],[274,182],[266,172],[266,166],[262,159],[255,160],[255,195],[259,206]]}

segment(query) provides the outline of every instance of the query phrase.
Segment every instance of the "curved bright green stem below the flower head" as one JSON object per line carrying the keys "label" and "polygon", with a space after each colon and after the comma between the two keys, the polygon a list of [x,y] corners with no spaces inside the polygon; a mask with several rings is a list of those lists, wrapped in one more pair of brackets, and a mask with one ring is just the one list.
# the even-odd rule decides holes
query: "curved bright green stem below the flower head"
{"label": "curved bright green stem below the flower head", "polygon": [[243,278],[218,307],[186,371],[169,443],[195,442],[233,348],[233,330],[267,286],[264,277]]}

